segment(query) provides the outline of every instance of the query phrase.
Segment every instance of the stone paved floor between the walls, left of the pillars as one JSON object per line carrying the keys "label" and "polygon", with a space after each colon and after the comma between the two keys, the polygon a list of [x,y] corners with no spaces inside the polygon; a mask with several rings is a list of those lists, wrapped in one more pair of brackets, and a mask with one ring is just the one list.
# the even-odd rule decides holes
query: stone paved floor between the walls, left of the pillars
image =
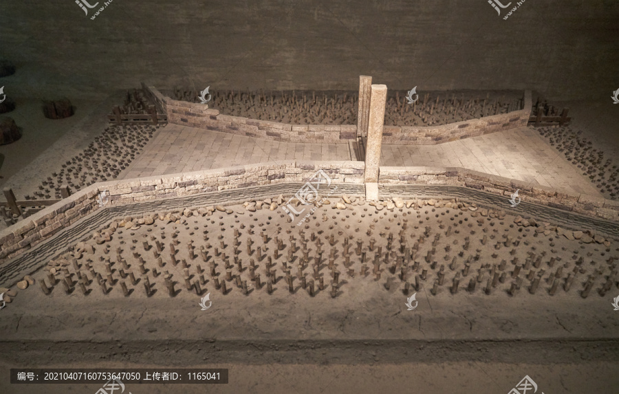
{"label": "stone paved floor between the walls, left of the pillars", "polygon": [[349,144],[294,144],[168,124],[120,177],[175,174],[275,160],[351,160],[351,152]]}

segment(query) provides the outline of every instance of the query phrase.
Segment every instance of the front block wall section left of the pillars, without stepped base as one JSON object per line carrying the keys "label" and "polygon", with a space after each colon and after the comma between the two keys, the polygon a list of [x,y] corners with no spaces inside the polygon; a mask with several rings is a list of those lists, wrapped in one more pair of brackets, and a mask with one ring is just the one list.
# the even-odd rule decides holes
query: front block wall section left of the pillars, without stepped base
{"label": "front block wall section left of the pillars, without stepped base", "polygon": [[99,210],[98,197],[102,191],[109,196],[104,199],[107,200],[106,207],[204,191],[295,182],[303,184],[318,169],[325,171],[335,184],[362,184],[364,168],[363,162],[286,161],[94,184],[1,231],[0,262],[21,254]]}

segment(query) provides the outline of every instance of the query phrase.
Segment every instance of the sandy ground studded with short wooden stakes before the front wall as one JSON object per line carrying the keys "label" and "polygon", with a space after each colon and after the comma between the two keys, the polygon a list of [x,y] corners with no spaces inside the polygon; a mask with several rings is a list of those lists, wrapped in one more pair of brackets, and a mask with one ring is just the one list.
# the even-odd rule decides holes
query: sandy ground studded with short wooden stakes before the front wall
{"label": "sandy ground studded with short wooden stakes before the front wall", "polygon": [[[327,293],[332,290],[329,283],[333,272],[338,271],[342,282],[338,292],[345,292],[349,286],[361,286],[357,283],[371,278],[386,287],[391,283],[398,287],[401,282],[415,285],[417,281],[418,285],[424,283],[429,288],[439,281],[436,287],[441,289],[439,292],[446,291],[453,281],[461,282],[456,287],[464,289],[471,279],[478,290],[486,288],[486,281],[493,281],[490,290],[500,294],[508,292],[514,278],[522,276],[527,278],[519,287],[525,288],[535,278],[541,278],[538,282],[541,287],[558,282],[561,289],[568,276],[574,284],[591,278],[599,285],[609,275],[613,276],[614,260],[619,259],[618,246],[604,237],[562,230],[533,219],[514,218],[501,211],[467,208],[462,203],[459,209],[453,205],[454,201],[435,200],[425,201],[431,204],[426,206],[421,200],[415,203],[410,200],[410,208],[400,209],[394,209],[391,203],[391,210],[389,206],[377,210],[362,199],[352,198],[352,204],[337,199],[341,209],[335,208],[336,201],[316,208],[305,222],[303,216],[310,212],[309,208],[299,206],[296,209],[305,208],[307,212],[296,218],[293,225],[287,223],[290,218],[283,210],[270,201],[268,204],[276,210],[232,206],[227,210],[230,213],[226,213],[203,207],[200,212],[185,210],[184,215],[189,217],[170,212],[156,212],[144,218],[127,217],[94,234],[94,239],[73,245],[72,252],[50,262],[50,269],[56,275],[54,283],[63,281],[67,272],[73,282],[78,272],[105,278],[111,270],[113,274],[107,278],[107,285],[123,279],[129,282],[124,275],[118,278],[120,270],[140,276],[148,269],[151,287],[159,289],[157,297],[168,296],[162,287],[161,272],[169,273],[177,288],[185,287],[185,277],[190,278],[193,286],[202,275],[201,285],[209,283],[212,289],[213,281],[217,278],[223,282],[224,274],[229,271],[226,274],[229,292],[237,287],[232,285],[237,283],[233,281],[235,276],[250,284],[252,292],[259,292],[264,291],[263,283],[268,281],[265,272],[273,269],[279,283],[276,288],[285,288],[283,279],[290,274],[295,292],[298,282],[305,277],[306,281],[316,281],[316,287],[318,279],[323,278],[326,286],[323,292]],[[265,208],[268,204],[258,205]],[[145,219],[150,224],[145,224]],[[366,232],[360,231],[365,228]],[[110,241],[105,241],[107,237]],[[110,270],[105,264],[109,264]],[[146,268],[138,272],[140,264]],[[251,265],[262,275],[262,284],[251,286]],[[360,274],[363,265],[365,275]],[[609,279],[612,287],[615,281]],[[61,286],[54,293],[61,295]],[[122,296],[116,290],[113,293]],[[100,289],[93,291],[99,293]],[[135,287],[135,293],[144,295],[141,285]]]}

